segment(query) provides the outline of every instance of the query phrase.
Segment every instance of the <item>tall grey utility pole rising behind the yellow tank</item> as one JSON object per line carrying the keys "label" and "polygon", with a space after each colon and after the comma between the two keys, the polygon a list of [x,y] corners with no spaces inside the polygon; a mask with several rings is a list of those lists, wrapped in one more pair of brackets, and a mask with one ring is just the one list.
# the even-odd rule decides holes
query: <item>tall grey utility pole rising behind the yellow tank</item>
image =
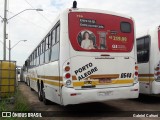
{"label": "tall grey utility pole rising behind the yellow tank", "polygon": [[3,60],[6,60],[6,24],[7,24],[7,0],[4,0],[4,18],[3,18]]}

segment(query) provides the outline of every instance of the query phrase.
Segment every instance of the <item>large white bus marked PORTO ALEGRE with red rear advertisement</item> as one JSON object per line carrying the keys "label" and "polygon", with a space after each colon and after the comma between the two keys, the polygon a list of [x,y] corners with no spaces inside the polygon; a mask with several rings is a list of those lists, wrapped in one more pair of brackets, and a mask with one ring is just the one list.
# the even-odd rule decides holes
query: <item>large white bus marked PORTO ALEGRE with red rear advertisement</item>
{"label": "large white bus marked PORTO ALEGRE with red rear advertisement", "polygon": [[135,46],[131,17],[67,9],[25,62],[29,86],[45,104],[137,98]]}

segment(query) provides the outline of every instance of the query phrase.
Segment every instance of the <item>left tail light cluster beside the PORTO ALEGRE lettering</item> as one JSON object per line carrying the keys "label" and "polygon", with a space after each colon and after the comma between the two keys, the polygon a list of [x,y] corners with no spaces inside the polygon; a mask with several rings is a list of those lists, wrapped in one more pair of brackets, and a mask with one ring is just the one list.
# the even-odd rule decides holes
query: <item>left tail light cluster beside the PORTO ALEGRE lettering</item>
{"label": "left tail light cluster beside the PORTO ALEGRE lettering", "polygon": [[65,84],[67,87],[70,87],[71,84],[72,84],[69,64],[70,64],[70,63],[68,62],[68,63],[67,63],[67,66],[64,67],[64,84]]}

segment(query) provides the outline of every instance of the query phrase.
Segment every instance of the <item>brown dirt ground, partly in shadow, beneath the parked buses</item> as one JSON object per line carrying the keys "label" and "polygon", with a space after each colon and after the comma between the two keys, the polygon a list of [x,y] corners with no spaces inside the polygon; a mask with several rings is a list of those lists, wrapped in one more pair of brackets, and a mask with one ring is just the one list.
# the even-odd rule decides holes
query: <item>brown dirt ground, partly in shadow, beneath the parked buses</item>
{"label": "brown dirt ground, partly in shadow, beneath the parked buses", "polygon": [[[160,96],[147,96],[147,95],[140,95],[140,98],[134,100],[113,100],[113,101],[106,101],[103,103],[87,103],[87,104],[79,104],[79,105],[70,105],[70,106],[60,106],[58,104],[51,103],[50,105],[44,105],[43,102],[38,100],[37,93],[35,91],[31,91],[30,88],[24,84],[23,82],[19,83],[19,89],[24,94],[25,98],[27,99],[29,104],[32,106],[33,111],[52,111],[57,113],[65,113],[66,116],[62,117],[52,117],[47,119],[53,120],[61,120],[61,119],[92,119],[92,120],[113,120],[110,116],[115,116],[114,119],[117,120],[158,120],[159,118],[154,117],[121,117],[116,118],[117,114],[121,115],[121,113],[125,114],[148,114],[149,111],[154,111],[149,113],[157,113],[160,117]],[[100,111],[99,113],[95,111]],[[124,112],[125,111],[125,112]],[[126,112],[127,111],[127,112]],[[128,112],[134,111],[134,112]],[[138,111],[138,112],[136,112]],[[142,111],[139,112],[139,111]],[[85,117],[85,115],[87,117]],[[77,116],[76,118],[73,116]],[[82,117],[83,116],[83,117]],[[88,117],[94,116],[94,117]],[[109,117],[107,117],[109,116]],[[123,115],[124,116],[124,115]],[[46,118],[45,118],[46,120]]]}

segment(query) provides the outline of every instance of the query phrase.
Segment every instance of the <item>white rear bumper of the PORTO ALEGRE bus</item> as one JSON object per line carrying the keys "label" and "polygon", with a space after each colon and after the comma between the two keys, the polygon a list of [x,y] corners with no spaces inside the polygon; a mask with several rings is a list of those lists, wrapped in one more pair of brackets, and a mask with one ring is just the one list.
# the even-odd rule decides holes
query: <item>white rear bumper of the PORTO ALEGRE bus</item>
{"label": "white rear bumper of the PORTO ALEGRE bus", "polygon": [[[138,90],[134,91],[135,89]],[[63,105],[138,98],[138,96],[139,82],[130,87],[106,89],[75,90],[73,88],[62,87]]]}

